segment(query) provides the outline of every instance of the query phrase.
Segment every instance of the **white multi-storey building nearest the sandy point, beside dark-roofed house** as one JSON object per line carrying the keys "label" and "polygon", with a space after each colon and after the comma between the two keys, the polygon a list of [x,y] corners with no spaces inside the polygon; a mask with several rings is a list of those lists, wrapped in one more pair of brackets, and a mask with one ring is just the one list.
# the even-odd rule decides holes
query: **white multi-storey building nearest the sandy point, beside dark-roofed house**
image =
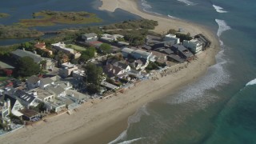
{"label": "white multi-storey building nearest the sandy point, beside dark-roofed house", "polygon": [[190,41],[184,40],[182,45],[188,48],[194,54],[198,54],[202,51],[202,42],[198,41],[197,39],[191,39]]}

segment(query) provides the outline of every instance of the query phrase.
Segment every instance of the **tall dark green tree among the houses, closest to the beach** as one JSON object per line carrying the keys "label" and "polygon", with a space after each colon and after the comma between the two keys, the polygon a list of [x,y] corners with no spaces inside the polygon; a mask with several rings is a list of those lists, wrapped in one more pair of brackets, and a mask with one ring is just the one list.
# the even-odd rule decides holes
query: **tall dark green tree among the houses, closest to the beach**
{"label": "tall dark green tree among the houses, closest to the beach", "polygon": [[102,67],[98,67],[92,63],[85,66],[86,69],[86,82],[87,90],[90,94],[98,93],[103,78]]}

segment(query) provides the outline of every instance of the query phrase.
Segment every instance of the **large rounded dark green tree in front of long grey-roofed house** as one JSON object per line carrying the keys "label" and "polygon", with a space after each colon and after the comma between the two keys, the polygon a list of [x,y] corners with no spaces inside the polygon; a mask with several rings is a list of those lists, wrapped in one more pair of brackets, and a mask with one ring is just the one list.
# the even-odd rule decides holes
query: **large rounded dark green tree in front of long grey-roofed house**
{"label": "large rounded dark green tree in front of long grey-roofed house", "polygon": [[22,57],[18,59],[18,76],[29,77],[40,72],[40,66],[34,62],[33,58]]}

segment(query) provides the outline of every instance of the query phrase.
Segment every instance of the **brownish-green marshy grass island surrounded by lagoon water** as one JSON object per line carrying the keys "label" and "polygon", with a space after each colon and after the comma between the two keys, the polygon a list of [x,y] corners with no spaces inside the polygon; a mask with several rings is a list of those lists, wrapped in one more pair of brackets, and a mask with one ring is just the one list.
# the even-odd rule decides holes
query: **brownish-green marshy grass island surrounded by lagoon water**
{"label": "brownish-green marshy grass island surrounded by lagoon water", "polygon": [[42,10],[32,14],[31,19],[22,19],[18,22],[19,25],[32,26],[54,26],[55,24],[86,24],[92,22],[102,22],[96,14],[85,11],[79,12],[64,12],[64,11],[50,11]]}

